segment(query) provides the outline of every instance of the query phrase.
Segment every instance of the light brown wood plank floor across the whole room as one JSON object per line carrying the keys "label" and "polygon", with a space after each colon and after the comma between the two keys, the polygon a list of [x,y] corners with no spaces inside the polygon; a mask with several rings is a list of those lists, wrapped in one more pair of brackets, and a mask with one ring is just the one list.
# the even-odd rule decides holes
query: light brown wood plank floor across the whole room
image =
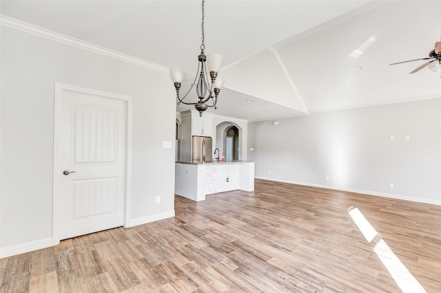
{"label": "light brown wood plank floor across the whole room", "polygon": [[441,292],[441,206],[256,180],[175,209],[1,259],[0,291]]}

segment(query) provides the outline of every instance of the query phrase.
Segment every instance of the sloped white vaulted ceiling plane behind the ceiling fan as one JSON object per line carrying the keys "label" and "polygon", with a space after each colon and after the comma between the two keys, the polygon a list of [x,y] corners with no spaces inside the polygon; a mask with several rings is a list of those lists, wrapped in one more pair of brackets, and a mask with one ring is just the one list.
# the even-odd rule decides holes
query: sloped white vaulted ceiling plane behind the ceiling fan
{"label": "sloped white vaulted ceiling plane behind the ceiling fan", "polygon": [[409,74],[425,61],[389,66],[426,57],[440,39],[440,15],[440,1],[394,1],[274,47],[311,113],[440,98],[439,73]]}

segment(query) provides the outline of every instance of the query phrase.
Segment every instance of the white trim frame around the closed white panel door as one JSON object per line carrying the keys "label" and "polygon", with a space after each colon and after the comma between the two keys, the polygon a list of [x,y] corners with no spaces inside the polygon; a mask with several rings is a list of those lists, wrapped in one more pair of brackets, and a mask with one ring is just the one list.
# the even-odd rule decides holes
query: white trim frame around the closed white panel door
{"label": "white trim frame around the closed white panel door", "polygon": [[126,129],[125,129],[125,195],[124,195],[124,226],[130,224],[130,206],[132,199],[132,111],[133,99],[131,96],[123,96],[120,94],[99,91],[96,89],[88,89],[85,87],[77,87],[75,85],[66,85],[64,83],[55,83],[54,94],[54,171],[53,171],[53,194],[52,194],[52,245],[56,246],[60,243],[59,237],[59,200],[61,182],[59,173],[62,172],[61,166],[61,97],[63,91],[77,92],[80,94],[89,94],[99,96],[100,98],[116,99],[125,102],[126,111]]}

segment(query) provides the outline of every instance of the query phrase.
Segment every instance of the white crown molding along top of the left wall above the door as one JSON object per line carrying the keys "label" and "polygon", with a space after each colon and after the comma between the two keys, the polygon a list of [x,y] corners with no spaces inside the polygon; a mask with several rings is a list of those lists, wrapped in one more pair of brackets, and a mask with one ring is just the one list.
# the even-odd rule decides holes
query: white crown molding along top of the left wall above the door
{"label": "white crown molding along top of the left wall above the door", "polygon": [[110,49],[107,49],[106,47],[94,45],[92,43],[88,43],[88,42],[82,41],[80,39],[75,39],[75,38],[72,38],[72,36],[67,36],[65,34],[60,34],[58,32],[54,32],[52,30],[47,30],[47,29],[41,28],[37,25],[25,23],[24,21],[12,19],[11,17],[6,17],[3,14],[0,14],[0,25],[6,26],[8,28],[13,28],[15,30],[21,30],[22,32],[27,32],[29,34],[34,34],[36,36],[41,36],[43,38],[50,39],[52,41],[57,41],[57,42],[65,44],[65,45],[70,45],[72,47],[78,47],[83,50],[88,50],[88,51],[94,52],[96,54],[101,54],[103,56],[118,59],[120,61],[132,63],[134,65],[138,65],[138,66],[145,67],[148,69],[156,70],[158,72],[163,72],[163,73],[168,72],[168,68],[165,66],[158,65],[156,63],[152,63],[149,61],[145,61],[141,58],[136,58],[134,56],[130,56],[130,55],[127,55],[127,54],[124,54],[121,52],[110,50]]}

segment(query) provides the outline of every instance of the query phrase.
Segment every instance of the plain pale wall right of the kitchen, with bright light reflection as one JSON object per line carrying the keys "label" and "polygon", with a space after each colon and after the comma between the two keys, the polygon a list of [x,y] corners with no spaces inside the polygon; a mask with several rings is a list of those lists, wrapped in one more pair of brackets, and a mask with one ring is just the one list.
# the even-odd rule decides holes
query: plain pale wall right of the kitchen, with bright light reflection
{"label": "plain pale wall right of the kitchen, with bright light reflection", "polygon": [[252,122],[248,146],[256,177],[441,204],[439,98]]}

